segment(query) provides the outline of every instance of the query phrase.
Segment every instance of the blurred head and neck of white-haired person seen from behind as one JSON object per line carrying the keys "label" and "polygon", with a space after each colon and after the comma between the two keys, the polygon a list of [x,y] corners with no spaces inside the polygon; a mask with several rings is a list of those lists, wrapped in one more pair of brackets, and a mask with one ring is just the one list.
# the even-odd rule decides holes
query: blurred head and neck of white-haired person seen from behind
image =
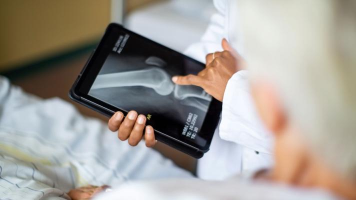
{"label": "blurred head and neck of white-haired person seen from behind", "polygon": [[275,136],[277,180],[356,191],[355,10],[354,0],[238,3],[252,95]]}

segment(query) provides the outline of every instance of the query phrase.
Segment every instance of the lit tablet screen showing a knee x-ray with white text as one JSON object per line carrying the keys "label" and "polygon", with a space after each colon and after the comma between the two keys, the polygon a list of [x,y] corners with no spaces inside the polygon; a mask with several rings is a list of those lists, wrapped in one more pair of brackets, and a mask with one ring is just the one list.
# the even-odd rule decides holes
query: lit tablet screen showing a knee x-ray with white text
{"label": "lit tablet screen showing a knee x-ray with white text", "polygon": [[212,135],[200,129],[212,97],[198,86],[171,81],[173,75],[198,73],[204,64],[125,29],[113,38],[87,94],[144,114],[162,133],[205,146]]}

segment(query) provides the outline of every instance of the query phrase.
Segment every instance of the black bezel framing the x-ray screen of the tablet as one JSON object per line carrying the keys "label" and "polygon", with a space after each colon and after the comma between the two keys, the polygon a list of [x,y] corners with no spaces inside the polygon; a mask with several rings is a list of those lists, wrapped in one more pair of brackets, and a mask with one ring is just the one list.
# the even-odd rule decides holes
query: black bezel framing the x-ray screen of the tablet
{"label": "black bezel framing the x-ray screen of the tablet", "polygon": [[[103,109],[106,109],[108,112],[111,112],[111,113],[114,113],[115,111],[122,111],[126,115],[127,114],[126,110],[112,106],[108,103],[105,103],[105,102],[87,94],[94,79],[96,78],[96,75],[99,73],[101,66],[103,65],[104,61],[106,60],[106,57],[108,56],[109,52],[111,51],[112,46],[116,42],[117,34],[120,30],[121,31],[124,30],[125,32],[128,32],[129,34],[134,34],[136,36],[143,37],[137,33],[134,33],[132,31],[122,27],[119,24],[110,23],[107,26],[106,31],[105,31],[104,35],[102,36],[97,48],[95,49],[95,51],[89,58],[85,67],[80,72],[80,75],[79,75],[76,83],[72,87],[72,92],[74,95],[79,96],[81,99],[86,101],[86,103],[91,104],[91,106],[96,106],[96,107],[99,106]],[[115,34],[115,32],[117,34]],[[179,52],[174,51],[166,46],[156,43],[148,38],[145,38],[145,39],[147,39],[153,45],[159,45],[162,48],[166,48],[167,50],[179,53]],[[181,53],[179,53],[179,54],[181,54]],[[198,62],[197,60],[194,60],[186,55],[183,55],[183,54],[181,54],[181,55],[187,59]],[[201,62],[199,62],[199,63],[201,63]],[[95,66],[100,66],[100,67],[95,67]],[[191,147],[200,149],[201,151],[207,151],[210,146],[214,130],[217,126],[220,112],[221,112],[221,102],[216,100],[215,98],[212,98],[209,108],[208,108],[208,111],[206,112],[203,124],[201,125],[200,131],[199,131],[199,132],[207,132],[208,133],[207,136],[204,137],[207,141],[204,146],[198,145],[189,139],[186,139],[186,140],[184,139],[182,141],[178,138],[172,137],[171,135],[164,134],[163,132],[160,132],[158,130],[155,130],[155,131],[158,131],[161,134],[166,135],[167,137],[171,137],[172,139],[178,140],[178,141],[180,141],[184,144],[187,144]]]}

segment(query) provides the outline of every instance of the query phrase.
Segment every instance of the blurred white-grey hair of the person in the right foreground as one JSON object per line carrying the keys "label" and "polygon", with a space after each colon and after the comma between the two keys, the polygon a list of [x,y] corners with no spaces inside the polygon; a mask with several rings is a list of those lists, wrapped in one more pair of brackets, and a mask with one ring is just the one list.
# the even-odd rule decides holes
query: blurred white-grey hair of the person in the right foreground
{"label": "blurred white-grey hair of the person in the right foreground", "polygon": [[356,1],[241,0],[252,78],[280,92],[313,152],[356,180]]}

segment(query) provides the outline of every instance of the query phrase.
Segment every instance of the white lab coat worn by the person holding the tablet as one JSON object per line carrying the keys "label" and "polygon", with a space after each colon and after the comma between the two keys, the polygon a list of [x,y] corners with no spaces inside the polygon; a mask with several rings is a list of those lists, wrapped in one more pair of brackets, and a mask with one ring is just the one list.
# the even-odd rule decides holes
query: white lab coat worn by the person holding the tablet
{"label": "white lab coat worn by the person holding the tablet", "polygon": [[[214,0],[217,13],[198,43],[185,53],[205,62],[207,53],[221,51],[226,38],[243,56],[242,38],[236,27],[236,13],[230,9],[235,0]],[[236,10],[236,9],[234,9]],[[228,81],[221,121],[216,128],[210,150],[198,160],[197,175],[203,179],[221,180],[244,170],[270,167],[272,135],[263,127],[249,93],[247,71],[236,72]]]}

